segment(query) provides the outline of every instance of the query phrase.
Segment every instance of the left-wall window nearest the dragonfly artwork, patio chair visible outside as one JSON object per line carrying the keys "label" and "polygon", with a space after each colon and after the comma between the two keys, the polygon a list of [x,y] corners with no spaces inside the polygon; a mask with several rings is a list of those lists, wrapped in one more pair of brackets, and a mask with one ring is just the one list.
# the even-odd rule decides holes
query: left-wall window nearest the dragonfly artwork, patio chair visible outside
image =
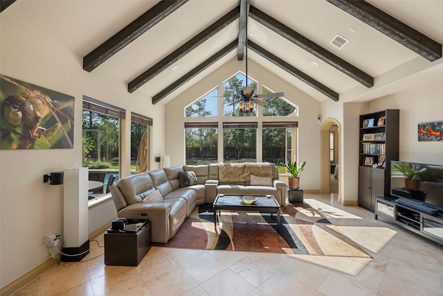
{"label": "left-wall window nearest the dragonfly artwork, patio chair visible outside", "polygon": [[125,119],[125,110],[83,96],[82,119],[83,166],[89,168],[90,175],[106,173],[98,180],[104,183],[102,188],[90,191],[105,193],[109,175],[118,179],[120,171],[120,120]]}

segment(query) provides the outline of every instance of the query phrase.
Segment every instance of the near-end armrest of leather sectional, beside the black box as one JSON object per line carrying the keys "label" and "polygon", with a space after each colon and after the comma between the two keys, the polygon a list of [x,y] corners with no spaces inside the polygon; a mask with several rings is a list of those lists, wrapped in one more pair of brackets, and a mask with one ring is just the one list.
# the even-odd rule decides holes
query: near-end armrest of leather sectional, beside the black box
{"label": "near-end armrest of leather sectional, beside the black box", "polygon": [[118,211],[118,217],[149,219],[152,226],[152,241],[167,243],[169,240],[171,204],[168,202],[138,202]]}

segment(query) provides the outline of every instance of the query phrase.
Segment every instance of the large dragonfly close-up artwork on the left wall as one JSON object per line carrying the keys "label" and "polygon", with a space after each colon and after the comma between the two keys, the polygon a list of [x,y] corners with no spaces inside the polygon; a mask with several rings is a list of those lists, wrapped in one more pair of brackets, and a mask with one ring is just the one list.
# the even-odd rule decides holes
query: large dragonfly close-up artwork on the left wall
{"label": "large dragonfly close-up artwork on the left wall", "polygon": [[73,96],[0,74],[0,112],[0,149],[73,148]]}

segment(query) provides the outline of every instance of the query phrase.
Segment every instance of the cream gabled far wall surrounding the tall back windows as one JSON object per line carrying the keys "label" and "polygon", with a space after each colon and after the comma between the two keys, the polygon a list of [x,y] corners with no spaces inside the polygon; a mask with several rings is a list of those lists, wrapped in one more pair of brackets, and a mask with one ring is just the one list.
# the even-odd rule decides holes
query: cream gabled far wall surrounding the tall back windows
{"label": "cream gabled far wall surrounding the tall back windows", "polygon": [[[165,151],[167,155],[171,155],[171,166],[185,163],[183,127],[186,118],[184,117],[184,108],[235,75],[237,71],[244,71],[244,64],[236,59],[230,60],[165,106],[165,114],[167,114]],[[317,122],[317,117],[320,114],[320,103],[253,61],[248,61],[248,75],[258,81],[259,89],[264,84],[273,92],[284,92],[284,98],[298,106],[299,116],[275,117],[275,120],[298,121],[298,159],[307,161],[305,171],[303,171],[300,178],[300,186],[303,189],[320,190],[320,159],[318,157],[320,153],[320,123]],[[219,110],[219,114],[221,113],[222,110]],[[223,121],[261,122],[262,118],[260,116],[247,118],[212,117],[200,121],[218,121],[219,127],[221,127]],[[222,162],[222,159],[219,159],[219,162]]]}

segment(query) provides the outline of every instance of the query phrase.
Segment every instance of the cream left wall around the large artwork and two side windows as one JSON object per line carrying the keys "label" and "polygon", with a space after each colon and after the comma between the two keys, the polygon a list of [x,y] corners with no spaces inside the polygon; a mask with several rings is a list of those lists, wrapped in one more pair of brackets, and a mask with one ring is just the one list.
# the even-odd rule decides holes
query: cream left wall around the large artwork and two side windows
{"label": "cream left wall around the large artwork and two side windows", "polygon": [[[8,12],[9,11],[9,12]],[[152,155],[163,155],[163,105],[127,92],[127,85],[100,71],[82,69],[82,56],[67,51],[26,21],[33,11],[0,18],[0,71],[3,75],[75,97],[74,148],[0,151],[1,288],[48,260],[45,234],[63,232],[63,186],[43,183],[43,175],[82,165],[82,96],[87,95],[154,119]],[[8,12],[8,13],[7,13]],[[69,32],[66,32],[69,33]],[[128,141],[130,125],[124,125]],[[129,143],[123,147],[129,168]],[[154,159],[150,159],[156,164]],[[125,172],[128,172],[125,168]],[[86,197],[85,197],[86,198]]]}

